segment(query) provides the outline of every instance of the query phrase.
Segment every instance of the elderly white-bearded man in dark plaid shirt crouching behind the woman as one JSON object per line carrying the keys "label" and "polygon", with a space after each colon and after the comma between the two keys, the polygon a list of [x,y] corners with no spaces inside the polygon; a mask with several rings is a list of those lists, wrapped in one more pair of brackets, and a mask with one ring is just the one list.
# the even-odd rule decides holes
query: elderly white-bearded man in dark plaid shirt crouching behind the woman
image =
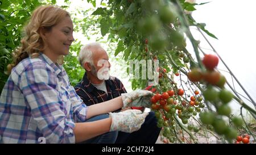
{"label": "elderly white-bearded man in dark plaid shirt crouching behind the woman", "polygon": [[[101,103],[119,97],[122,93],[126,93],[122,82],[117,77],[109,76],[111,66],[109,56],[99,43],[85,45],[79,53],[79,61],[86,72],[82,81],[75,86],[75,90],[86,105]],[[95,118],[92,121],[98,119],[104,118]],[[133,133],[118,132],[116,140],[116,135],[108,135],[112,139],[104,143],[115,141],[118,144],[154,144],[160,133],[160,128],[156,124],[155,114],[154,112],[150,112],[142,124],[141,129]],[[96,137],[86,143],[101,143],[101,138]]]}

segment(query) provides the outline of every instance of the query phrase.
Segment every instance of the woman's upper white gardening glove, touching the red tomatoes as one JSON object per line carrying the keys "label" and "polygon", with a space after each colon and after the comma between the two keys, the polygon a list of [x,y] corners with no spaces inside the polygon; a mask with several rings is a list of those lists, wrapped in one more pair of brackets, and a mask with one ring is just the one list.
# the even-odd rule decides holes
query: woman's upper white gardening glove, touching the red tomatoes
{"label": "woman's upper white gardening glove, touching the red tomatoes", "polygon": [[123,108],[126,107],[150,107],[150,99],[153,93],[148,90],[134,90],[131,93],[121,94]]}

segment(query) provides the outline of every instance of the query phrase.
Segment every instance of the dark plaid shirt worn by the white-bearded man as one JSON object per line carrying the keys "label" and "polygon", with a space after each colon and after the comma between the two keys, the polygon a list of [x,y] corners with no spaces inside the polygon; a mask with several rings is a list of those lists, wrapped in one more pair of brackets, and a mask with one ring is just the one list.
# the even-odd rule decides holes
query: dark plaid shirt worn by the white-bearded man
{"label": "dark plaid shirt worn by the white-bearded man", "polygon": [[85,73],[82,81],[75,86],[75,90],[77,95],[84,100],[84,103],[87,106],[117,98],[121,96],[121,93],[127,93],[123,83],[118,78],[110,76],[110,78],[105,80],[105,82],[108,95],[105,91],[98,90],[96,87],[94,87],[87,79]]}

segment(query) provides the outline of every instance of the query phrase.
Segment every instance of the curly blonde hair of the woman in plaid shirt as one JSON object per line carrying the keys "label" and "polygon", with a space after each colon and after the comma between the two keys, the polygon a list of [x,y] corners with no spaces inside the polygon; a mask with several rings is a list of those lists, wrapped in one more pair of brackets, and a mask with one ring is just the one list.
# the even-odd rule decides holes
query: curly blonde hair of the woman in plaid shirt
{"label": "curly blonde hair of the woman in plaid shirt", "polygon": [[[12,53],[13,62],[7,66],[7,72],[10,74],[11,69],[19,64],[24,58],[35,58],[40,55],[46,48],[42,37],[40,36],[40,28],[51,31],[51,28],[61,22],[70,14],[58,6],[39,6],[32,12],[32,16],[27,26],[24,27],[24,37],[20,41],[20,47],[16,48]],[[63,56],[57,61],[61,63]]]}

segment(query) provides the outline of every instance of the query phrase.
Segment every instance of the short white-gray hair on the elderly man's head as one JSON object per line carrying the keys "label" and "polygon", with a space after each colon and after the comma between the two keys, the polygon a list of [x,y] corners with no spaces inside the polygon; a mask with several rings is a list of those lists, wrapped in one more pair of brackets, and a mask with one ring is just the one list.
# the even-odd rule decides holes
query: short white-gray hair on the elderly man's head
{"label": "short white-gray hair on the elderly man's head", "polygon": [[85,62],[89,62],[93,65],[92,49],[102,48],[100,43],[89,43],[84,45],[79,52],[79,62],[82,68],[84,68]]}

